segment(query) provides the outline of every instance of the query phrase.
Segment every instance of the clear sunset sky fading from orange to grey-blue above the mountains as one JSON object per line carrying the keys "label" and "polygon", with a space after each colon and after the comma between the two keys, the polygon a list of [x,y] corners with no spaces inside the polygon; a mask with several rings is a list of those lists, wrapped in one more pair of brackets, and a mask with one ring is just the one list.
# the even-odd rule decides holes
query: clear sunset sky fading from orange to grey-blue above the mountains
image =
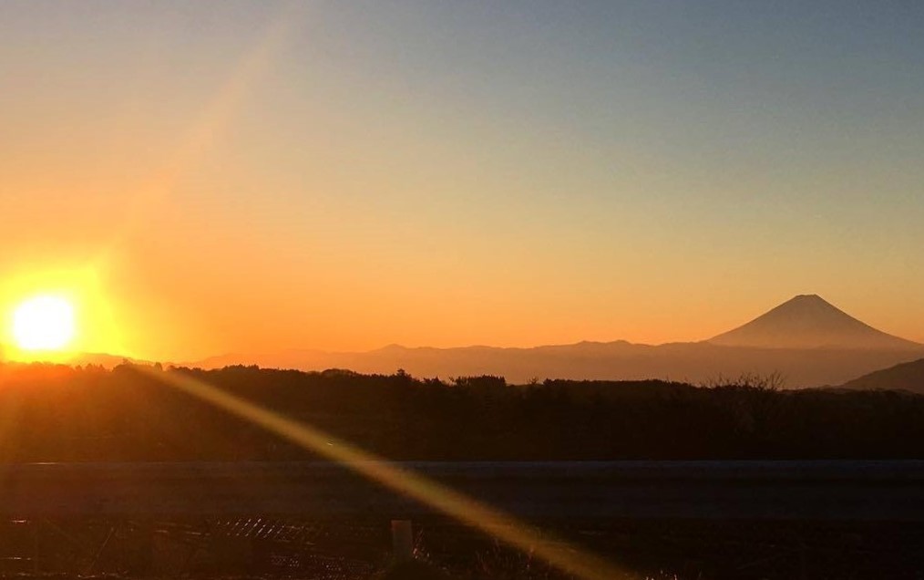
{"label": "clear sunset sky fading from orange to grey-blue above the mountains", "polygon": [[[924,341],[918,2],[0,3],[0,310],[74,348]],[[7,335],[0,335],[7,336]],[[3,339],[0,339],[2,342]]]}

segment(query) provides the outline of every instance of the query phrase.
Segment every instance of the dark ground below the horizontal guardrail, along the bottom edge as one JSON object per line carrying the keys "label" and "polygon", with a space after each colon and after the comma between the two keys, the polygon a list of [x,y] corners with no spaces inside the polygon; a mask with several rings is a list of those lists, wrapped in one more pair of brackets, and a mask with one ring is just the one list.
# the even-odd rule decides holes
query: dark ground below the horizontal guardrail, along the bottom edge
{"label": "dark ground below the horizontal guardrail, along the bottom edge", "polygon": [[[921,578],[919,524],[614,521],[541,523],[639,578]],[[529,554],[439,519],[420,521],[416,555],[432,574],[500,580],[563,578]],[[4,576],[306,578],[388,574],[388,522],[274,519],[12,520],[0,525]]]}

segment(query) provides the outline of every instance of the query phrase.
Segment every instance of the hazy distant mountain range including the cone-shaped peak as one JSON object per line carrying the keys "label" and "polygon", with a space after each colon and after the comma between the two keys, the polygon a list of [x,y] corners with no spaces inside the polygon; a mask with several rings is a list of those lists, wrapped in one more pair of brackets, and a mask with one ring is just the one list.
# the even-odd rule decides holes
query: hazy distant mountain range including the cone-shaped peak
{"label": "hazy distant mountain range including the cone-shaped peak", "polygon": [[765,315],[700,342],[658,346],[578,342],[534,348],[407,348],[370,352],[286,351],[229,354],[193,366],[230,364],[415,376],[502,375],[511,382],[538,378],[668,378],[693,383],[778,373],[788,387],[838,385],[854,377],[924,356],[924,345],[886,334],[846,315],[816,295],[796,296]]}

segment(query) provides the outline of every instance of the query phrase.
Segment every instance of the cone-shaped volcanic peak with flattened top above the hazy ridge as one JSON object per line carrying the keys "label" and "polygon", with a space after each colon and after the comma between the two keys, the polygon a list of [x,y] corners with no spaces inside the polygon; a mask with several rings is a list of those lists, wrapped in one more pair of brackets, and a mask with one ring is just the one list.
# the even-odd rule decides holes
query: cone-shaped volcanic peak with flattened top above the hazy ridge
{"label": "cone-shaped volcanic peak with flattened top above the hazy ridge", "polygon": [[796,296],[709,342],[764,349],[916,350],[924,346],[870,327],[816,294]]}

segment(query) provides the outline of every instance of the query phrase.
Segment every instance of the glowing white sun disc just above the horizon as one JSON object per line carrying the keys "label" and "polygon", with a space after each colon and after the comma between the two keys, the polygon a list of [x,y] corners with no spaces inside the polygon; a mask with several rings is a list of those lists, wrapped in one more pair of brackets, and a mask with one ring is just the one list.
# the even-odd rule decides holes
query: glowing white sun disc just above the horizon
{"label": "glowing white sun disc just above the horizon", "polygon": [[37,296],[13,312],[13,338],[24,351],[59,351],[74,338],[74,308],[57,296]]}

